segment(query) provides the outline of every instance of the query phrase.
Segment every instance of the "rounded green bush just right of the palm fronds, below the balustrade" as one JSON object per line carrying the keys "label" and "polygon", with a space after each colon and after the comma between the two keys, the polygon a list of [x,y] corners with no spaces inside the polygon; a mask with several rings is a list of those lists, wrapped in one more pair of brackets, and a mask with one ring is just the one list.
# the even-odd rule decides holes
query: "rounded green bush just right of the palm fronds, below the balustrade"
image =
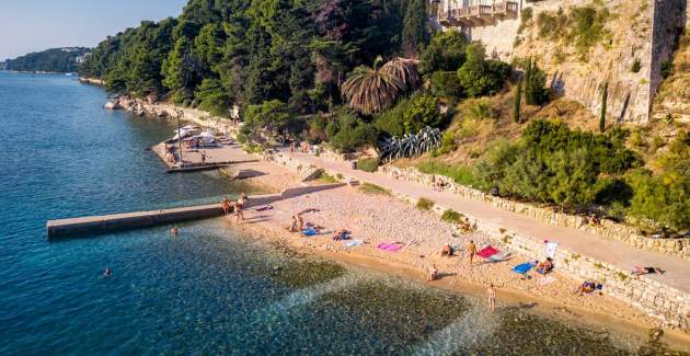
{"label": "rounded green bush just right of the palm fronds, below the balustrade", "polygon": [[456,71],[464,62],[464,51],[470,42],[458,31],[437,32],[422,53],[419,71]]}

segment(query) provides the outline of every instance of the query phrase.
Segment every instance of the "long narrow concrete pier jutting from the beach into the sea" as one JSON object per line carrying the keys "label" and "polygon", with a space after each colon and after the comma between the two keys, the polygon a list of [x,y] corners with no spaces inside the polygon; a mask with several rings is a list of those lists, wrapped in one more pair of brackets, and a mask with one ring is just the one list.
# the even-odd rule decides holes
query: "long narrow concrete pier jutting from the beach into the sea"
{"label": "long narrow concrete pier jutting from the beach into the sea", "polygon": [[48,239],[79,233],[103,233],[114,230],[145,228],[160,223],[204,219],[222,216],[220,204],[193,207],[113,214],[82,218],[49,220]]}

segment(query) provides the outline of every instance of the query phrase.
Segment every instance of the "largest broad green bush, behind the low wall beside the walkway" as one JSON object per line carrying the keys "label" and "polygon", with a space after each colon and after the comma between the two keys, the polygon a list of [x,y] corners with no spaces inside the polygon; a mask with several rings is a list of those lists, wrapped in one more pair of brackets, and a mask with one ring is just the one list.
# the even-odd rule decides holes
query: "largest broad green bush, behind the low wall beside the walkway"
{"label": "largest broad green bush, behind the low wall beside the walkway", "polygon": [[480,186],[563,208],[583,208],[597,196],[600,174],[621,174],[640,159],[625,149],[624,133],[595,135],[563,123],[533,120],[516,143],[492,145],[476,164]]}

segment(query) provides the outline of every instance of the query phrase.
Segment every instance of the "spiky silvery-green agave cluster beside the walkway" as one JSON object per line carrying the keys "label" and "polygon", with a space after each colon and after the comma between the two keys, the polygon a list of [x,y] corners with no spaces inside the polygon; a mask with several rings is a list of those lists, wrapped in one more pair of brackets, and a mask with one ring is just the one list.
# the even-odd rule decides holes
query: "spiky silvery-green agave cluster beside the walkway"
{"label": "spiky silvery-green agave cluster beside the walkway", "polygon": [[441,143],[441,134],[438,128],[425,127],[419,133],[406,134],[402,138],[392,137],[379,145],[381,161],[390,162],[401,158],[419,157]]}

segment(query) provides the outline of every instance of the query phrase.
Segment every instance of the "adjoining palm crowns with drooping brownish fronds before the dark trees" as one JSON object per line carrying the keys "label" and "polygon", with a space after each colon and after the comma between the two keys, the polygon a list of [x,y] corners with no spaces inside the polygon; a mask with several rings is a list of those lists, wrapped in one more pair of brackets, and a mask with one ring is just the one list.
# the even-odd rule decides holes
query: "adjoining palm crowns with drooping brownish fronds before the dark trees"
{"label": "adjoining palm crowns with drooping brownish fronds before the dark trees", "polygon": [[379,56],[373,67],[355,68],[342,85],[343,96],[349,106],[365,115],[381,112],[401,93],[421,83],[414,60],[395,58],[379,68],[381,61]]}

